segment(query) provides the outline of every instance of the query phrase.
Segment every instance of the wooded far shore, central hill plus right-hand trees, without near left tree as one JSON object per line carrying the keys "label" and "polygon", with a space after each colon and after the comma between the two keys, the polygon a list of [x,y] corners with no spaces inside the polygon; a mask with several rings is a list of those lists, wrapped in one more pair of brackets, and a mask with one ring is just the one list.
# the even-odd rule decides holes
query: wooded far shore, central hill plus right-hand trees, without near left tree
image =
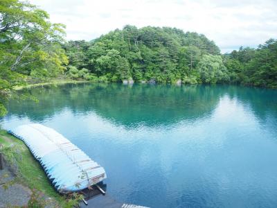
{"label": "wooded far shore, central hill plus right-hand trees, without near left tree", "polygon": [[100,82],[237,83],[277,87],[277,42],[221,55],[204,35],[177,28],[125,26],[91,42],[64,45],[71,78]]}

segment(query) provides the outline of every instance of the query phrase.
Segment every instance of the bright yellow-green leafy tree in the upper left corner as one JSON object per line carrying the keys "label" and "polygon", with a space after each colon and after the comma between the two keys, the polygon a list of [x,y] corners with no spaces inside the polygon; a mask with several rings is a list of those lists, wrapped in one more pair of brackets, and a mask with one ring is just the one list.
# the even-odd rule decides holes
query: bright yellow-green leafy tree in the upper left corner
{"label": "bright yellow-green leafy tree in the upper left corner", "polygon": [[[0,1],[0,102],[27,77],[45,80],[64,70],[64,25],[51,24],[44,10],[19,0]],[[4,98],[5,97],[5,98]],[[5,113],[1,105],[0,114]]]}

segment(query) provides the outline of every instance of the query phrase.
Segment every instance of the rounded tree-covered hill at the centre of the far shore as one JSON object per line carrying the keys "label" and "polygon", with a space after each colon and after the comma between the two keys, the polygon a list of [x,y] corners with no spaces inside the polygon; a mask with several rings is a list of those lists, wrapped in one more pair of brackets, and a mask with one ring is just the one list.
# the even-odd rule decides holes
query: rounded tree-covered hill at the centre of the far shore
{"label": "rounded tree-covered hill at the centre of the far shore", "polygon": [[[177,28],[125,26],[91,42],[74,41],[64,46],[69,57],[69,74],[119,82],[124,79],[156,80],[158,83],[197,83],[197,66],[216,64],[207,83],[228,81],[220,49],[204,35],[184,33]],[[77,69],[76,69],[77,68]],[[203,68],[203,70],[205,70]]]}

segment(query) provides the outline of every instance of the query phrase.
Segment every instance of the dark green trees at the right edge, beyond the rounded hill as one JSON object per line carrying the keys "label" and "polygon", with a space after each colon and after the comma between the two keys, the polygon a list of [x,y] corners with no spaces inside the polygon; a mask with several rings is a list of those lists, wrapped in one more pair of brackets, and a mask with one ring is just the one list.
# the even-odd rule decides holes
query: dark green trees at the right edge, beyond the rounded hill
{"label": "dark green trees at the right edge, beyond the rounded hill", "polygon": [[242,48],[224,55],[233,83],[277,87],[277,40],[270,39],[258,49]]}

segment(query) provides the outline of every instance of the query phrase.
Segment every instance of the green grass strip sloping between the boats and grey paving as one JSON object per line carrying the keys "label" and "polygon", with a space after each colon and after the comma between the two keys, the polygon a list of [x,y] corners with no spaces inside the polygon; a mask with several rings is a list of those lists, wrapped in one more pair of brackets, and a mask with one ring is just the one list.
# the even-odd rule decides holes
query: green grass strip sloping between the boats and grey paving
{"label": "green grass strip sloping between the boats and grey paving", "polygon": [[65,198],[52,187],[42,166],[33,157],[23,141],[9,135],[5,130],[0,130],[0,144],[3,145],[2,152],[5,159],[17,169],[17,182],[53,198],[59,207],[66,207]]}

